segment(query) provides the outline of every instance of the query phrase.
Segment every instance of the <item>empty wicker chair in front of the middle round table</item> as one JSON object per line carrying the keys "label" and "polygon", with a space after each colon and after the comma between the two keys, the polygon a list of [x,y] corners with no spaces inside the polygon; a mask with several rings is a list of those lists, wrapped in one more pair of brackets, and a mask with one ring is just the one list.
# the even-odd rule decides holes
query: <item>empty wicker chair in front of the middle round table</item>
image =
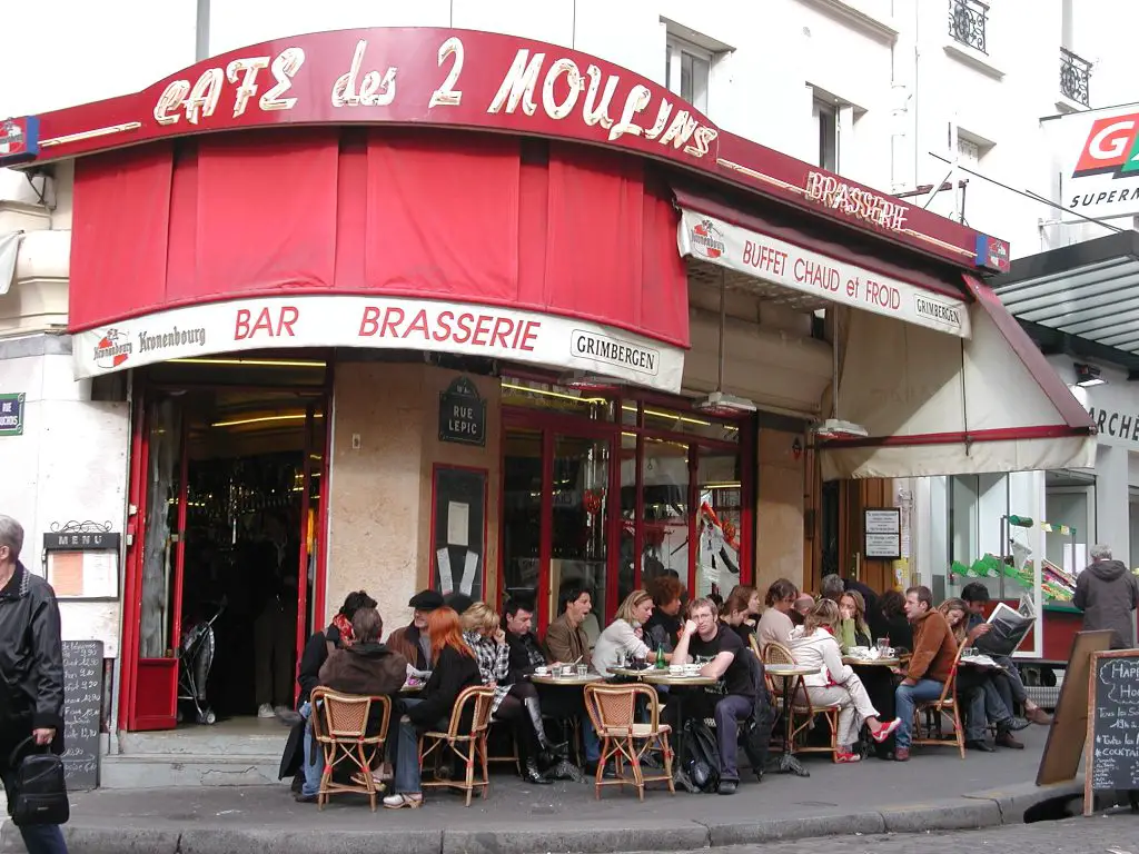
{"label": "empty wicker chair in front of the middle round table", "polygon": [[[637,723],[637,698],[648,701],[648,723]],[[661,723],[661,699],[652,685],[620,684],[585,685],[585,711],[601,739],[601,756],[597,763],[593,794],[601,797],[603,786],[633,786],[641,800],[645,799],[645,783],[666,782],[669,791],[675,794],[672,782],[672,746],[669,733],[672,728]],[[659,750],[664,758],[664,771],[646,777],[641,769],[641,757],[649,750]],[[613,759],[616,777],[604,779],[605,764]],[[632,772],[630,778],[625,763]]]}

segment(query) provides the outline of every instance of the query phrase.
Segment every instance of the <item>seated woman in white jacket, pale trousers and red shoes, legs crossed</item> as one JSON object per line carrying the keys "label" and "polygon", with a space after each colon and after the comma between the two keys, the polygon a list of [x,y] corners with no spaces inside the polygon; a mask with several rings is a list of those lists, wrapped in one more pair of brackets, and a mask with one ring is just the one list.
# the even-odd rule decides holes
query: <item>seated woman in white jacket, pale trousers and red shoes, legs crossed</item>
{"label": "seated woman in white jacket, pale trousers and red shoes, legs crossed", "polygon": [[838,706],[838,750],[835,762],[858,762],[862,757],[854,753],[858,733],[866,722],[870,737],[882,744],[898,729],[898,720],[883,723],[862,681],[854,671],[843,664],[842,650],[835,640],[834,629],[838,624],[838,606],[829,599],[817,602],[808,613],[803,625],[790,634],[790,652],[797,664],[819,667],[819,673],[804,676],[806,691],[816,706]]}

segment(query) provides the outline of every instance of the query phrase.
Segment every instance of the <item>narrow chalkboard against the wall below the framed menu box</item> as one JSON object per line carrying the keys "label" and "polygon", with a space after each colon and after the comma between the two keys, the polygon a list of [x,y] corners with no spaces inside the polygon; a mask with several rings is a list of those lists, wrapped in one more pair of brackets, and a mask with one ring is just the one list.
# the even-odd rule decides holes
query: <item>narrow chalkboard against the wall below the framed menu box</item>
{"label": "narrow chalkboard against the wall below the framed menu box", "polygon": [[64,774],[68,791],[99,785],[103,641],[64,642]]}

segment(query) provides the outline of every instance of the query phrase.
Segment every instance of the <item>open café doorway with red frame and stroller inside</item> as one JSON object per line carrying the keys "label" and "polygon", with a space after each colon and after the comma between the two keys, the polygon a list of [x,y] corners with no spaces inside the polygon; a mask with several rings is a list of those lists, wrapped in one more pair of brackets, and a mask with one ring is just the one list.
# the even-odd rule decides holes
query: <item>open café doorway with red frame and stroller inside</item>
{"label": "open caf\u00e9 doorway with red frame and stroller inside", "polygon": [[300,652],[322,609],[327,394],[323,363],[312,364],[321,370],[308,387],[144,380],[131,460],[125,729],[293,706]]}

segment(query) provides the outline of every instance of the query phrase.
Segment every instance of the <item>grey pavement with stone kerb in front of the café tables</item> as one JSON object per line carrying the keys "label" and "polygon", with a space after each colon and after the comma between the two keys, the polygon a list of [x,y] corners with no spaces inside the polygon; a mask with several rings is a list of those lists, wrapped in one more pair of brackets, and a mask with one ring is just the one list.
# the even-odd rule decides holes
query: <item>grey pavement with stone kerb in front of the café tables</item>
{"label": "grey pavement with stone kerb in front of the caf\u00e9 tables", "polygon": [[[907,832],[1016,823],[1033,803],[1075,786],[1040,790],[1035,778],[1047,730],[1019,733],[1025,750],[969,753],[925,748],[906,764],[867,759],[834,765],[805,759],[809,779],[745,780],[734,797],[603,791],[592,786],[522,783],[505,767],[486,800],[470,808],[429,791],[421,810],[372,814],[363,799],[336,799],[323,812],[294,803],[280,787],[99,790],[72,800],[68,841],[77,854],[169,852],[238,854],[278,846],[354,854],[541,854],[689,851],[837,834]],[[0,851],[10,848],[6,827]]]}

